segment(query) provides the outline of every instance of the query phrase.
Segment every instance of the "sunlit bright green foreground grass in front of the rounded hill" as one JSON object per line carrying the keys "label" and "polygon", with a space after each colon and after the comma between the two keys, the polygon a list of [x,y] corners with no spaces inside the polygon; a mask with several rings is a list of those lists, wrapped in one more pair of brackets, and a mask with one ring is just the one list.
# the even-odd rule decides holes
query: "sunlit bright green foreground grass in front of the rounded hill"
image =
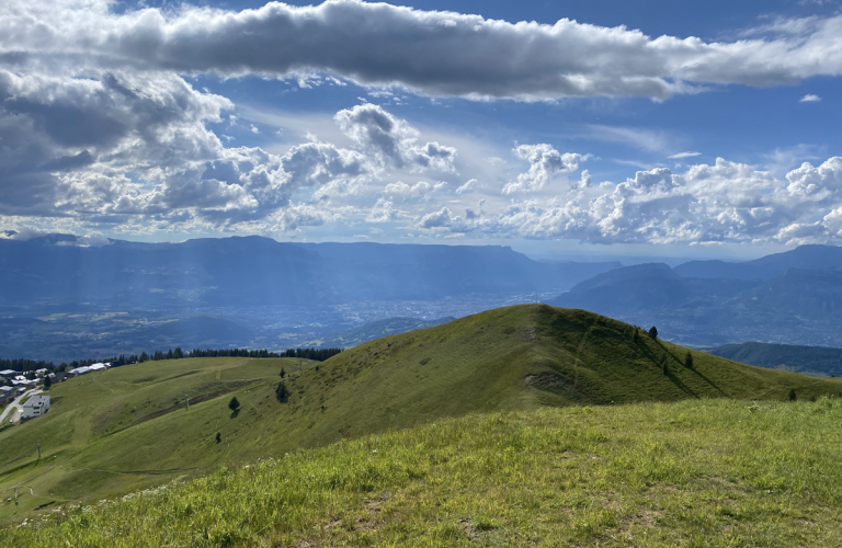
{"label": "sunlit bright green foreground grass in front of the rounded hill", "polygon": [[471,414],[0,530],[7,546],[838,546],[842,400]]}

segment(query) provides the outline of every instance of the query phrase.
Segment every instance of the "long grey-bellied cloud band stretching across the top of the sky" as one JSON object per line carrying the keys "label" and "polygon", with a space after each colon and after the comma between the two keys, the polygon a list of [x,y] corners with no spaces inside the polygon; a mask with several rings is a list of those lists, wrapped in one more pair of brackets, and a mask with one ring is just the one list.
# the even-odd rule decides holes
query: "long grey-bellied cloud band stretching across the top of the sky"
{"label": "long grey-bellied cloud band stretching across the top of the sky", "polygon": [[[270,2],[242,11],[185,4],[118,12],[112,4],[3,2],[0,55],[10,65],[95,59],[106,69],[264,75],[303,87],[338,77],[432,96],[524,100],[667,99],[708,84],[767,87],[842,73],[839,14],[782,20],[728,43],[651,38],[568,19],[510,23],[357,0]],[[327,77],[314,76],[320,72]]]}

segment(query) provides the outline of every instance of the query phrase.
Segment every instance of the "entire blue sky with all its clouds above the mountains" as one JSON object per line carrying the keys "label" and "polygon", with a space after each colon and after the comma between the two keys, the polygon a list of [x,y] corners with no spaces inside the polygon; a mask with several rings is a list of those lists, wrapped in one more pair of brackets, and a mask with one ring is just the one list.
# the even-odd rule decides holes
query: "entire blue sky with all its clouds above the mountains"
{"label": "entire blue sky with all its clouds above the mountains", "polygon": [[840,8],[5,0],[0,233],[839,244]]}

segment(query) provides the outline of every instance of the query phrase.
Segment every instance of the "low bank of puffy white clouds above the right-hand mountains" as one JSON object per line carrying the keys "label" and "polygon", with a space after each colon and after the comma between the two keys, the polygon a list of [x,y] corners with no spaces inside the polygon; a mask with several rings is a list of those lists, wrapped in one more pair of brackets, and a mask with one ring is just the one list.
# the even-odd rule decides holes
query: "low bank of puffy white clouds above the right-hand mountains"
{"label": "low bank of puffy white clouds above the right-hand mountains", "polygon": [[591,243],[833,241],[842,238],[841,191],[839,157],[819,167],[805,163],[785,181],[719,158],[681,173],[638,171],[616,185],[582,187],[567,201],[525,199],[498,212],[468,210],[465,219],[445,207],[421,217],[419,227]]}

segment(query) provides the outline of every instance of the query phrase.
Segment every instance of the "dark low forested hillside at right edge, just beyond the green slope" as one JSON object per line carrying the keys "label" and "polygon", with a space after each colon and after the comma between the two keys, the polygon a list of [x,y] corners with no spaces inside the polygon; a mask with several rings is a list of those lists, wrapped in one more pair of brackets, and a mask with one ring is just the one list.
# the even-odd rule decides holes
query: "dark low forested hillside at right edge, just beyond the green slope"
{"label": "dark low forested hillside at right edge, just beyond the green slope", "polygon": [[706,352],[760,367],[780,367],[798,373],[842,376],[842,349],[747,342],[707,349]]}

